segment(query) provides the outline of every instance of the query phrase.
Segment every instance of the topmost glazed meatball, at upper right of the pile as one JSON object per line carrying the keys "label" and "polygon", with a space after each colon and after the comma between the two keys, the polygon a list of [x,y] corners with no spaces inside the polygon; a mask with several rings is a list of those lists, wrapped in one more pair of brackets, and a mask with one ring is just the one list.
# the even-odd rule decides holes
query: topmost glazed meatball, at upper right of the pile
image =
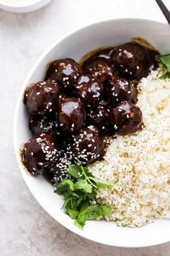
{"label": "topmost glazed meatball, at upper right of the pile", "polygon": [[148,54],[143,46],[128,43],[117,46],[112,52],[112,61],[121,77],[140,79],[147,75]]}

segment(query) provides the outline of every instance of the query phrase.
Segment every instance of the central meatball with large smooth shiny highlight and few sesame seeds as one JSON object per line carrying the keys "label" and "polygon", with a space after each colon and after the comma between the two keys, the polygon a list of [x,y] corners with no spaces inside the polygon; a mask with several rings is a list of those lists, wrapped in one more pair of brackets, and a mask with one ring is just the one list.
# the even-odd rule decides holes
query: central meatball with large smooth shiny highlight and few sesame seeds
{"label": "central meatball with large smooth shiny highlight and few sesame seeds", "polygon": [[58,103],[58,124],[63,131],[77,132],[84,126],[86,111],[77,98],[63,97]]}

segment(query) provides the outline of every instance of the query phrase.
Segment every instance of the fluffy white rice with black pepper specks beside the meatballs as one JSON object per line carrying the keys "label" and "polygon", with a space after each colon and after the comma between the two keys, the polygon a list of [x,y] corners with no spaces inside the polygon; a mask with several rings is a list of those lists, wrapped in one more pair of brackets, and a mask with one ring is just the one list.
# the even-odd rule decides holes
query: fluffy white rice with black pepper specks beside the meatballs
{"label": "fluffy white rice with black pepper specks beside the meatballs", "polygon": [[161,69],[140,81],[138,106],[145,128],[112,140],[103,161],[89,166],[113,189],[98,189],[97,200],[112,206],[118,226],[143,226],[154,218],[170,218],[170,80]]}

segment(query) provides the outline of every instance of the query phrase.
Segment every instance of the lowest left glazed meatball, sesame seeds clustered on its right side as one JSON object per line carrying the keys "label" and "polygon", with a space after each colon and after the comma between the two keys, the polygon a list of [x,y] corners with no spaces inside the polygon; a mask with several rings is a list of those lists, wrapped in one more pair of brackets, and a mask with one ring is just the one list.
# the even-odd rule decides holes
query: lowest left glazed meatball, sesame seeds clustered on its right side
{"label": "lowest left glazed meatball, sesame seeds clustered on its right side", "polygon": [[50,168],[55,159],[57,149],[50,135],[32,137],[22,148],[22,163],[31,174],[42,174]]}

